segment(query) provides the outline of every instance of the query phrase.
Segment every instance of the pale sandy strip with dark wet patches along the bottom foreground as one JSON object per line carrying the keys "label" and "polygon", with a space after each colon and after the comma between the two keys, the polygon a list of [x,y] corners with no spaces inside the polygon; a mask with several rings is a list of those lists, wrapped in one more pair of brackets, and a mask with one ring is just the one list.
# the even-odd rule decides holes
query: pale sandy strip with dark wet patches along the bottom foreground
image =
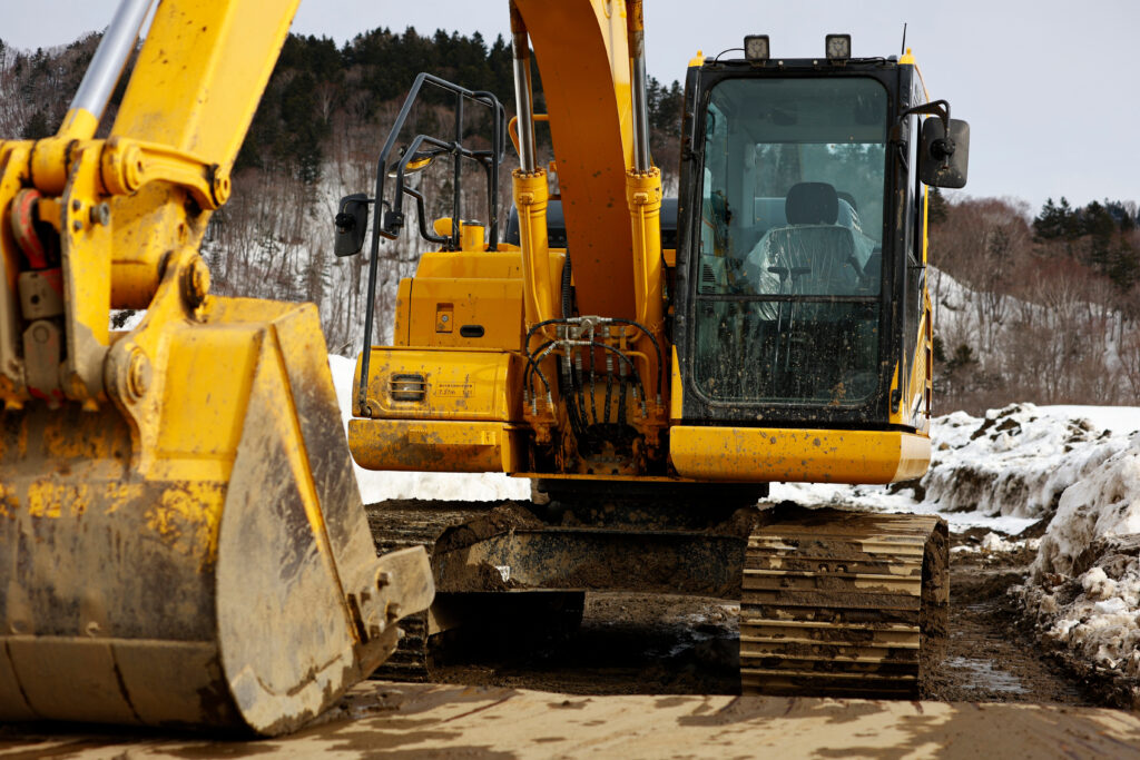
{"label": "pale sandy strip with dark wet patches along the bottom foreground", "polygon": [[1061,705],[571,696],[369,681],[258,742],[0,729],[0,758],[1140,758],[1140,717]]}

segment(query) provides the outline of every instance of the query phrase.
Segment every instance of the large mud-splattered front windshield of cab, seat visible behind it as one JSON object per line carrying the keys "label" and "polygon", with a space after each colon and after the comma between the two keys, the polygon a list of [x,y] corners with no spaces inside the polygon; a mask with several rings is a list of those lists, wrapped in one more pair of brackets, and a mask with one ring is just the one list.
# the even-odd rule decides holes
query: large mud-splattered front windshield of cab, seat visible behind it
{"label": "large mud-splattered front windshield of cab, seat visible behind it", "polygon": [[886,133],[872,79],[714,87],[694,299],[706,397],[855,406],[876,391]]}

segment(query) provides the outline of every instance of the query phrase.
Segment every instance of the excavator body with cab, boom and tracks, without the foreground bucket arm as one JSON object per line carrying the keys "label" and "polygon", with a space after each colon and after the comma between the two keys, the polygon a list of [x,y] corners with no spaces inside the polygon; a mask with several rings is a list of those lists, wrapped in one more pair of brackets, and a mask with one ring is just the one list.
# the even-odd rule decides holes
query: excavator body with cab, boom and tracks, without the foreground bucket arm
{"label": "excavator body with cab, boom and tracks, without the foreground bucket arm", "polygon": [[[422,74],[374,191],[336,216],[340,255],[370,242],[367,303],[407,204],[433,248],[399,284],[393,345],[373,345],[368,314],[356,461],[503,472],[536,495],[369,508],[381,546],[431,553],[437,587],[388,672],[430,677],[433,637],[499,606],[521,624],[630,589],[740,598],[744,690],[913,696],[923,646],[945,634],[945,523],[756,504],[772,482],[926,471],[926,186],[964,185],[968,125],[929,100],[909,51],[856,58],[833,34],[820,56],[780,58],[750,35],[690,62],[667,199],[641,0],[511,0],[510,13],[516,119],[492,93]],[[454,99],[454,131],[397,145],[425,89]],[[504,220],[506,133],[520,169]],[[453,197],[429,224],[416,178],[433,164]],[[472,171],[486,174],[484,221],[464,206]]]}

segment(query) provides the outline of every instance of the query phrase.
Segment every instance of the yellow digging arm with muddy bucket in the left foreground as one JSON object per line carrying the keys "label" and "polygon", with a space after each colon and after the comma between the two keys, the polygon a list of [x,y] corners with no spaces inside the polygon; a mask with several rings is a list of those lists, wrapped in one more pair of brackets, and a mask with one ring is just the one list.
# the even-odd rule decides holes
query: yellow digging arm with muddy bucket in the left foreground
{"label": "yellow digging arm with muddy bucket in the left foreground", "polygon": [[163,0],[97,138],[153,5],[57,134],[0,141],[0,720],[277,734],[433,587],[376,557],[315,309],[211,295],[198,253],[296,0]]}

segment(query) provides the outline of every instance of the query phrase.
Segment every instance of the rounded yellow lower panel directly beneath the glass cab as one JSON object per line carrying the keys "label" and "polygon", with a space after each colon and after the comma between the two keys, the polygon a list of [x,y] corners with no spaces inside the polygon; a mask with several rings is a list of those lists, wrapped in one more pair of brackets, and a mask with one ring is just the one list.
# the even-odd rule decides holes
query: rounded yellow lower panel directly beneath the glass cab
{"label": "rounded yellow lower panel directly beneath the glass cab", "polygon": [[683,477],[715,481],[893,483],[922,475],[930,439],[898,431],[697,427],[669,431]]}

